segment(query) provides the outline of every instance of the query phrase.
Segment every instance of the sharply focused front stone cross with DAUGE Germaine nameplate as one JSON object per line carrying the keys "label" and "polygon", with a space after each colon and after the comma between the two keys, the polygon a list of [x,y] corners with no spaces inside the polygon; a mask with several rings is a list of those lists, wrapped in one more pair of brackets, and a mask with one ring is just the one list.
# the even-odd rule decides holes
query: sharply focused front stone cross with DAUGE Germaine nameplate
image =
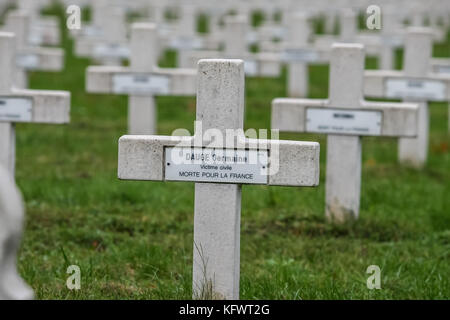
{"label": "sharply focused front stone cross with DAUGE Germaine nameplate", "polygon": [[194,136],[119,140],[119,179],[196,182],[194,298],[239,298],[242,184],[319,183],[318,143],[244,136],[244,86],[242,60],[201,60]]}

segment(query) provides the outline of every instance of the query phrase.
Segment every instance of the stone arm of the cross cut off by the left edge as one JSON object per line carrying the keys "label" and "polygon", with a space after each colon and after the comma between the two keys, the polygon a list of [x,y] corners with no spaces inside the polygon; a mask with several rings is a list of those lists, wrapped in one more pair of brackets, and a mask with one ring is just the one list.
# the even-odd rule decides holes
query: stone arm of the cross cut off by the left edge
{"label": "stone arm of the cross cut off by the left edge", "polygon": [[[24,99],[30,101],[31,119],[27,121],[44,124],[64,124],[70,122],[70,93],[66,91],[12,89],[8,95],[0,95],[0,103],[8,99]],[[0,109],[1,110],[1,109]],[[2,118],[0,117],[0,122]]]}

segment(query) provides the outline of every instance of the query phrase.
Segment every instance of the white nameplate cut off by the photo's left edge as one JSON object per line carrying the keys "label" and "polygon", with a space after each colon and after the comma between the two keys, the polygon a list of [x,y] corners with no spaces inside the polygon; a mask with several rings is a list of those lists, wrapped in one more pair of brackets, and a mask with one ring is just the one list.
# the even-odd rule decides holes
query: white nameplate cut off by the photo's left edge
{"label": "white nameplate cut off by the photo's left edge", "polygon": [[0,97],[0,122],[31,122],[32,108],[31,99]]}

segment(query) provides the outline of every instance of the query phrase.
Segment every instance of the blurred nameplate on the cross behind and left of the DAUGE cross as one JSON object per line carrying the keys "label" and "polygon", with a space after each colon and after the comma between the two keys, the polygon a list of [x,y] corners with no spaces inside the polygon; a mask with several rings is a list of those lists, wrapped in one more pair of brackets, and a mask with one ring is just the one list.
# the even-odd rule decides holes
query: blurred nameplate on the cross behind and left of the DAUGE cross
{"label": "blurred nameplate on the cross behind and left of the DAUGE cross", "polygon": [[113,92],[130,95],[169,94],[170,79],[157,74],[116,74],[113,76]]}

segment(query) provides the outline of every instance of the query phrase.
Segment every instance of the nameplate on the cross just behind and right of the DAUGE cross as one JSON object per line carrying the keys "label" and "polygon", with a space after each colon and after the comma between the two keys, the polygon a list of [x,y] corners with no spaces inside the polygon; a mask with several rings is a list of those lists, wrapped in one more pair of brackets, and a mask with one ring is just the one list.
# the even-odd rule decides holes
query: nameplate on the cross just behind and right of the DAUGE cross
{"label": "nameplate on the cross just behind and right of the DAUGE cross", "polygon": [[381,135],[381,111],[308,108],[306,131],[355,136]]}

